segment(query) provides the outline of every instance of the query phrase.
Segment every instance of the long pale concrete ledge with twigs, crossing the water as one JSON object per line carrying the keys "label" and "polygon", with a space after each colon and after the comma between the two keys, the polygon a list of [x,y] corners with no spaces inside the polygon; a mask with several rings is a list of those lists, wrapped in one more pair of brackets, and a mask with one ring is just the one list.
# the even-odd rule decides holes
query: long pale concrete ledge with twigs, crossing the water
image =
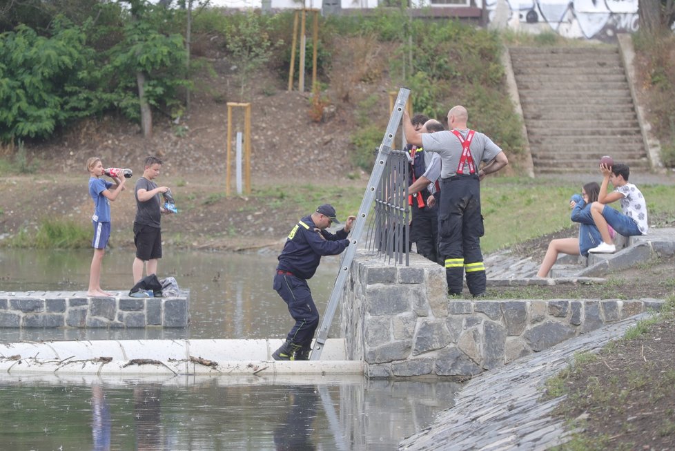
{"label": "long pale concrete ledge with twigs, crossing the water", "polygon": [[273,361],[274,340],[97,340],[0,346],[0,374],[97,376],[363,375],[346,361],[344,340],[326,340],[320,361]]}

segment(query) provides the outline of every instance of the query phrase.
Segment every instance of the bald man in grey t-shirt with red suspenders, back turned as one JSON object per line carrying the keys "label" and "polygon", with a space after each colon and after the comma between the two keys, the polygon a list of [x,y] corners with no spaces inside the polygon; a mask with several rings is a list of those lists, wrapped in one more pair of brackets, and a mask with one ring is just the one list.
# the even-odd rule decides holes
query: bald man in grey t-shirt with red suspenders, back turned
{"label": "bald man in grey t-shirt with red suspenders, back turned", "polygon": [[[460,296],[467,277],[471,294],[485,294],[486,276],[480,237],[480,180],[509,164],[502,149],[480,132],[467,128],[469,114],[463,106],[448,112],[450,131],[418,133],[403,113],[403,128],[410,144],[422,145],[425,152],[437,152],[442,161],[438,248],[445,262],[448,294]],[[485,166],[479,169],[480,162]]]}

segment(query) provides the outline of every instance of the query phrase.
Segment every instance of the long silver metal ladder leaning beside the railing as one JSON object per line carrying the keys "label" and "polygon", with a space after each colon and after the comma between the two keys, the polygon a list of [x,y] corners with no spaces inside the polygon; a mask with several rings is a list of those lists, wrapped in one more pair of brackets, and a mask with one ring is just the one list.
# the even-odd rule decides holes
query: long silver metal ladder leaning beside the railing
{"label": "long silver metal ladder leaning beside the railing", "polygon": [[373,167],[373,172],[371,173],[370,180],[366,186],[366,193],[363,196],[359,213],[356,216],[354,228],[351,231],[349,247],[347,247],[344,253],[344,258],[342,258],[342,262],[340,263],[340,273],[337,274],[335,287],[333,287],[331,298],[328,301],[328,305],[326,305],[326,313],[324,314],[321,325],[319,326],[319,332],[317,333],[314,349],[310,357],[311,360],[319,360],[319,358],[321,358],[322,349],[326,343],[326,338],[328,338],[328,332],[331,328],[331,323],[333,323],[333,316],[335,315],[335,310],[337,309],[337,303],[340,302],[340,298],[342,297],[342,292],[344,291],[344,286],[346,285],[347,276],[349,275],[349,268],[351,267],[351,262],[354,260],[356,248],[360,244],[361,236],[363,235],[363,231],[366,227],[366,218],[368,218],[368,213],[371,209],[371,206],[373,205],[373,200],[375,200],[375,194],[378,191],[378,185],[380,184],[380,179],[382,179],[384,167],[387,165],[387,159],[389,158],[389,155],[391,155],[396,130],[398,129],[398,124],[401,122],[403,108],[405,108],[409,95],[410,90],[407,88],[400,88],[398,91],[398,97],[396,97],[396,101],[393,105],[393,111],[389,117],[387,131],[384,132],[384,138],[382,139],[382,144],[380,144],[380,148],[378,150],[378,157],[375,159],[375,166]]}

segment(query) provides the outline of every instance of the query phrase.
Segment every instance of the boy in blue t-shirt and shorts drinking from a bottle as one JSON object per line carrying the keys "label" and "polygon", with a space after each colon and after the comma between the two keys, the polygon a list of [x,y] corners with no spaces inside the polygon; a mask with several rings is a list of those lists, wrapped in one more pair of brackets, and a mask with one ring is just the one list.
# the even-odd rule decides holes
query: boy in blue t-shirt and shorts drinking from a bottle
{"label": "boy in blue t-shirt and shorts drinking from a bottle", "polygon": [[94,238],[91,242],[94,248],[94,256],[91,259],[91,268],[89,271],[89,289],[88,296],[113,296],[101,289],[101,264],[106,255],[106,246],[110,238],[110,202],[117,199],[120,191],[124,190],[126,179],[120,180],[113,177],[115,189],[110,191],[113,183],[101,180],[103,175],[103,163],[100,158],[91,157],[87,161],[89,170],[89,195],[94,201],[94,215],[91,222],[94,225]]}

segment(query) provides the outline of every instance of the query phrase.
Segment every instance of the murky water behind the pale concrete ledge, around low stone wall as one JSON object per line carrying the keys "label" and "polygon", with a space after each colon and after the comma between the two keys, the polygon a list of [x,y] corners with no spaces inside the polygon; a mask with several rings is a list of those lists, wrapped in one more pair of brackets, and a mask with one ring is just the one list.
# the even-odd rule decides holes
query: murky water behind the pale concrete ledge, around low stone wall
{"label": "murky water behind the pale concrete ledge, around low stone wall", "polygon": [[[309,280],[320,313],[331,296],[338,258],[324,258]],[[101,283],[107,291],[133,286],[133,252],[110,249]],[[0,249],[0,291],[81,291],[88,283],[91,251]],[[159,277],[173,276],[190,289],[187,329],[0,329],[0,341],[152,338],[283,338],[293,320],[272,289],[276,253],[166,252]],[[331,335],[338,331],[333,322]]]}

